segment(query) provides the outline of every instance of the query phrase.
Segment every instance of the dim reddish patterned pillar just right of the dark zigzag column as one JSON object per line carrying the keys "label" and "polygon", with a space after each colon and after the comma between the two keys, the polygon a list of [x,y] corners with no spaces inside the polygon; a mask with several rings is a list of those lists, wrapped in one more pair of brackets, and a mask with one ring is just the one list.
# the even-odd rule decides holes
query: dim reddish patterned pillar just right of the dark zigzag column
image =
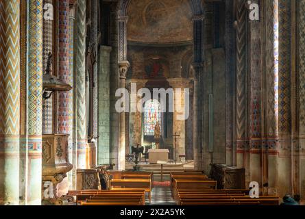
{"label": "dim reddish patterned pillar just right of the dark zigzag column", "polygon": [[[253,1],[258,3],[258,1]],[[261,87],[261,42],[260,22],[249,21],[249,168],[246,173],[246,188],[249,181],[257,181],[263,187],[261,179],[262,152],[262,87]]]}

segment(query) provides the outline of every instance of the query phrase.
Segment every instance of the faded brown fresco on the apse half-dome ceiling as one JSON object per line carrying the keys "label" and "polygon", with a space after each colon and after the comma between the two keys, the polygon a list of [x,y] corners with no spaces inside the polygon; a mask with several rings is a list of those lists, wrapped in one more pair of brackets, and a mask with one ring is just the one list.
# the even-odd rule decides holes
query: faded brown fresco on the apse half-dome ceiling
{"label": "faded brown fresco on the apse half-dome ceiling", "polygon": [[193,39],[188,0],[132,0],[127,16],[131,42],[169,44]]}

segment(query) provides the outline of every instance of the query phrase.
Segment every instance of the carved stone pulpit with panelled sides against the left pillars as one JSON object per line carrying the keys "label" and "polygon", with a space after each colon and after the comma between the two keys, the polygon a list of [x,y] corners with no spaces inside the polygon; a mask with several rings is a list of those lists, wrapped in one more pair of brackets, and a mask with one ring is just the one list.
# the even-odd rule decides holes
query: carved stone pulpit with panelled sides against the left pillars
{"label": "carved stone pulpit with panelled sides against the left pillars", "polygon": [[58,197],[57,185],[73,167],[69,162],[68,137],[64,134],[42,136],[43,205],[64,205],[65,197]]}

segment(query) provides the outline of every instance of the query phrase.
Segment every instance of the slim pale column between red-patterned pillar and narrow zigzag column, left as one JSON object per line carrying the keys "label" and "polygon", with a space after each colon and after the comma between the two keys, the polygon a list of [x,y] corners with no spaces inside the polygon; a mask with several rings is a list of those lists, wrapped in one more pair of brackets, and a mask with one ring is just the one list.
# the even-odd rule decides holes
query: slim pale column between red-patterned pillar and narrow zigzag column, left
{"label": "slim pale column between red-patterned pillar and narrow zigzag column, left", "polygon": [[[75,5],[71,5],[69,11],[69,76],[71,77],[70,84],[74,85],[74,21],[75,21]],[[76,144],[73,144],[74,141],[74,125],[75,125],[75,114],[74,114],[74,99],[75,99],[75,90],[70,90],[69,94],[69,130],[70,136],[68,138],[68,146],[69,146],[69,161],[73,165],[73,169],[68,172],[68,180],[69,180],[69,190],[76,189]]]}

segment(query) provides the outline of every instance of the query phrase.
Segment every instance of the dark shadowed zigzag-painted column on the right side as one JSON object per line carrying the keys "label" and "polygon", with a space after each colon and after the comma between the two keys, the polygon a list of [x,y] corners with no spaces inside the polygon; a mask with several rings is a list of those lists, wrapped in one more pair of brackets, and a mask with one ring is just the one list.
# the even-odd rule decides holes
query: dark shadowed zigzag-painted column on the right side
{"label": "dark shadowed zigzag-painted column on the right side", "polygon": [[247,114],[247,8],[245,0],[236,1],[236,165],[245,167]]}

